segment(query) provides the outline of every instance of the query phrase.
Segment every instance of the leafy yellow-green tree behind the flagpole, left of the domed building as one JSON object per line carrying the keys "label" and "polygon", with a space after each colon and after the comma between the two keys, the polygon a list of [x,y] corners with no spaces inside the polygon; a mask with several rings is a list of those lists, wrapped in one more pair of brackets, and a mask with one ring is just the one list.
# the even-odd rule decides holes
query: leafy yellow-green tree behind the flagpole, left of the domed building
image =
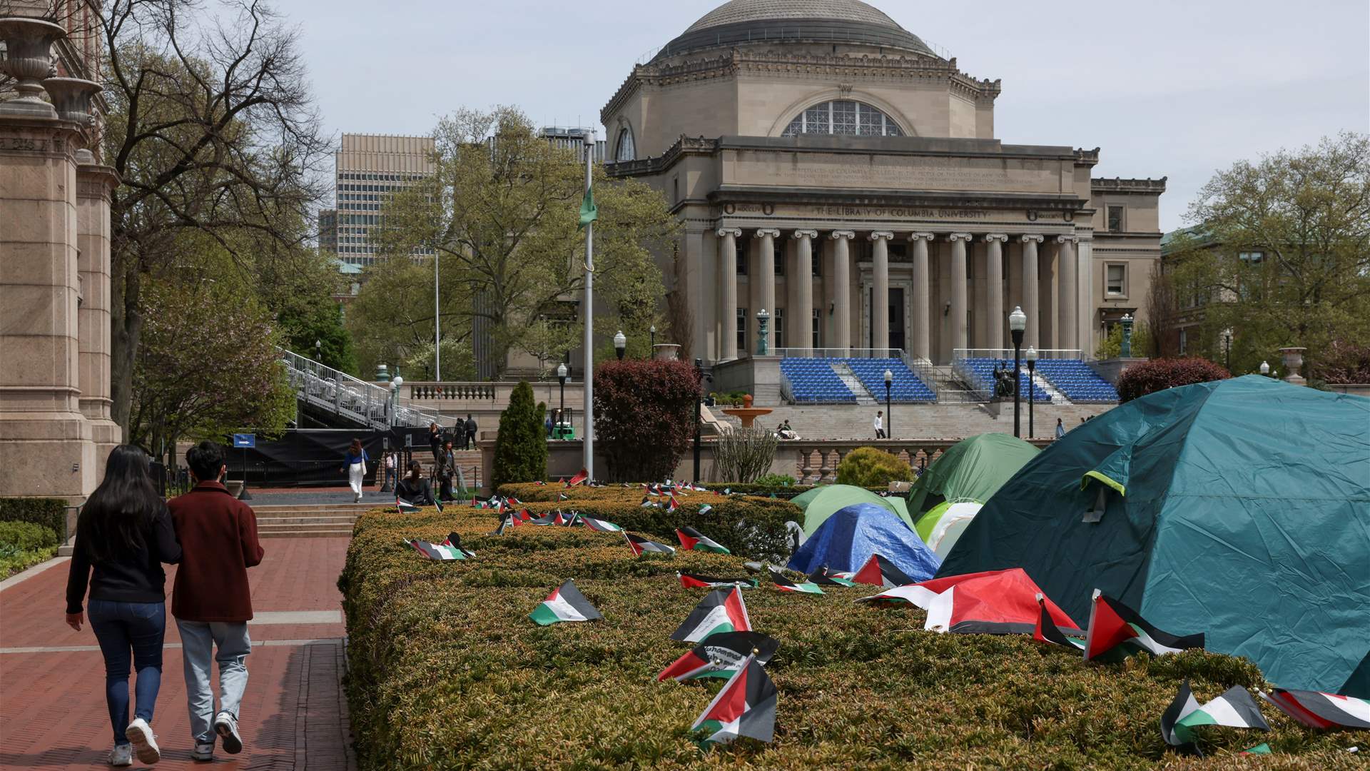
{"label": "leafy yellow-green tree behind the flagpole, left of the domed building", "polygon": [[[558,358],[577,347],[584,163],[538,137],[514,107],[463,108],[434,133],[434,174],[385,207],[386,228],[373,236],[381,254],[426,248],[438,255],[444,327],[452,324],[455,337],[464,339],[477,320],[488,322],[499,375],[510,351]],[[664,327],[652,250],[664,250],[678,224],[660,192],[634,180],[610,181],[603,167],[593,173],[596,305],[610,309],[596,314],[596,333],[612,337],[622,328],[630,344],[645,348],[648,328]],[[406,296],[429,288],[429,302],[407,302],[399,316],[406,327],[432,329],[432,266],[422,284],[416,272],[395,269],[392,278],[404,280]]]}

